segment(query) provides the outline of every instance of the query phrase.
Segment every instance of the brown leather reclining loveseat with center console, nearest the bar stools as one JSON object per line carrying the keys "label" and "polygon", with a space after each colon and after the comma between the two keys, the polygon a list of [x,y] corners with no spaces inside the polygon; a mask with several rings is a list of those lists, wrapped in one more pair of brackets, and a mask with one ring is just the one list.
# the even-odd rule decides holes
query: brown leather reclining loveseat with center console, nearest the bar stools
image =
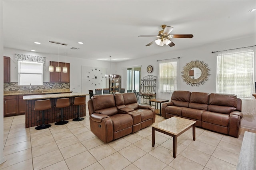
{"label": "brown leather reclining loveseat with center console, nearest the bar stools", "polygon": [[135,93],[94,95],[88,101],[91,131],[103,142],[110,142],[150,126],[155,109],[137,103]]}

